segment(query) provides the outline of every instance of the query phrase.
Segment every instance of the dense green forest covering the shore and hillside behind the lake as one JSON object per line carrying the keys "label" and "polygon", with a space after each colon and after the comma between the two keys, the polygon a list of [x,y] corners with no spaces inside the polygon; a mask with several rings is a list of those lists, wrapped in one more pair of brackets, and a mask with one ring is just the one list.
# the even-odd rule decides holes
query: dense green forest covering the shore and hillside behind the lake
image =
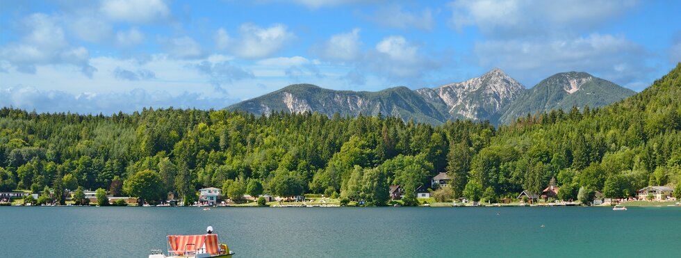
{"label": "dense green forest covering the shore and hillside behind the lake", "polygon": [[192,200],[197,189],[214,186],[384,205],[388,186],[398,184],[409,205],[413,190],[448,172],[454,197],[472,200],[538,193],[550,181],[563,200],[580,191],[626,197],[648,185],[681,185],[680,129],[681,64],[621,102],[528,114],[500,127],[382,115],[175,108],[79,115],[6,107],[0,191],[81,186],[154,202],[169,191]]}

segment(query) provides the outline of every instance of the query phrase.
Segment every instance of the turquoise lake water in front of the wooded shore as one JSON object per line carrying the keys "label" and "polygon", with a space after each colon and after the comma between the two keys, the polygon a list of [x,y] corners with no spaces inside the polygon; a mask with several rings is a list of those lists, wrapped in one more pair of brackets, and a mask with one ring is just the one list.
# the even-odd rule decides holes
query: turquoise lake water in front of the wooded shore
{"label": "turquoise lake water in front of the wooded shore", "polygon": [[681,256],[681,207],[628,209],[0,207],[0,257],[147,257],[208,225],[235,257]]}

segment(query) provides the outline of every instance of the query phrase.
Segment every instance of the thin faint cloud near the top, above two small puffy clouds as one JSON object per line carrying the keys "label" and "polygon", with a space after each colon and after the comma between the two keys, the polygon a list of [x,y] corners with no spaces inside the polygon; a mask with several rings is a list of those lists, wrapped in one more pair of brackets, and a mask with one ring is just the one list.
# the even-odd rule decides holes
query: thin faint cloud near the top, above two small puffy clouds
{"label": "thin faint cloud near the top, above two small puffy clouds", "polygon": [[409,13],[400,6],[388,6],[380,8],[370,20],[389,28],[409,29],[416,28],[424,31],[432,31],[434,27],[433,14],[430,9],[418,13]]}

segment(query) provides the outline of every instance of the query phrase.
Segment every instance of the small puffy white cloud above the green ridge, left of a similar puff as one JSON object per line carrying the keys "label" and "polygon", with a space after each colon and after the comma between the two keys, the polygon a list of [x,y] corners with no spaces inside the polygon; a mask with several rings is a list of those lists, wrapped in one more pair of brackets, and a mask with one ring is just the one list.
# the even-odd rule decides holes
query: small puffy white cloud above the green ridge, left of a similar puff
{"label": "small puffy white cloud above the green ridge, left of a similar puff", "polygon": [[321,58],[331,61],[355,61],[360,56],[360,29],[352,29],[350,33],[331,35],[327,42],[313,47],[311,50]]}

